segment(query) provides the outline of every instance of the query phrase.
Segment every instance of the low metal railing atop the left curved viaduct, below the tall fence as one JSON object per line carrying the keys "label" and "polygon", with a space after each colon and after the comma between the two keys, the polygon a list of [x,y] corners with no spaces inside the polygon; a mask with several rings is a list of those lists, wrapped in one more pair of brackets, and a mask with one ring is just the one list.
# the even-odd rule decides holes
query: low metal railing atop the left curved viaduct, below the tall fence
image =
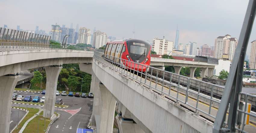
{"label": "low metal railing atop the left curved viaduct, below the tall fence", "polygon": [[14,43],[14,42],[0,42],[0,51],[16,51],[16,50],[39,50],[39,49],[69,49],[89,51],[89,48],[76,46],[61,46],[42,43]]}

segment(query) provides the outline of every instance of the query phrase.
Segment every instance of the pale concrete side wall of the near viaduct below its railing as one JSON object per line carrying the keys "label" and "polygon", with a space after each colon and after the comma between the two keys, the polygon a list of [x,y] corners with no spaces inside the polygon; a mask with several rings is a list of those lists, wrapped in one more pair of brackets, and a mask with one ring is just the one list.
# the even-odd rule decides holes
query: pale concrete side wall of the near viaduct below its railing
{"label": "pale concrete side wall of the near viaduct below its railing", "polygon": [[92,69],[114,97],[151,132],[212,132],[212,123],[93,61]]}

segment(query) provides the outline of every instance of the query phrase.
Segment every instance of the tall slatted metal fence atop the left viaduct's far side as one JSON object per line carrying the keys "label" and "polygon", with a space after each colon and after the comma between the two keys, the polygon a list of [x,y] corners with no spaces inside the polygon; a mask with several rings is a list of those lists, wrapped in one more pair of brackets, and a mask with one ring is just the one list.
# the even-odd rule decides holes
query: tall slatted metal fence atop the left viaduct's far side
{"label": "tall slatted metal fence atop the left viaduct's far side", "polygon": [[49,44],[51,36],[0,28],[0,42]]}

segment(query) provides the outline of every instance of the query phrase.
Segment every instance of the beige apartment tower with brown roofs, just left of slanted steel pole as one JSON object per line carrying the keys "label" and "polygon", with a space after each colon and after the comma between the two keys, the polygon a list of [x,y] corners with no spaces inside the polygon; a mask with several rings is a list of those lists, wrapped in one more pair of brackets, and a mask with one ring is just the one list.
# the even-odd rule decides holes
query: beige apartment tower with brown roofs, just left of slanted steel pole
{"label": "beige apartment tower with brown roofs, just left of slanted steel pole", "polygon": [[220,59],[223,55],[228,55],[229,60],[233,60],[237,42],[238,40],[229,34],[217,37],[214,43],[214,58]]}

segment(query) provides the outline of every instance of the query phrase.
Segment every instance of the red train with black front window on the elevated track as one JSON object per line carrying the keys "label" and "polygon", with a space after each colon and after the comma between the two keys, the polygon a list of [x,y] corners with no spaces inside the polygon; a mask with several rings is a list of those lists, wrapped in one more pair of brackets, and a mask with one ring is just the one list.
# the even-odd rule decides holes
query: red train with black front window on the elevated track
{"label": "red train with black front window on the elevated track", "polygon": [[106,45],[105,54],[105,58],[119,64],[124,64],[128,69],[146,72],[146,66],[150,65],[151,46],[147,42],[137,39],[111,41]]}

